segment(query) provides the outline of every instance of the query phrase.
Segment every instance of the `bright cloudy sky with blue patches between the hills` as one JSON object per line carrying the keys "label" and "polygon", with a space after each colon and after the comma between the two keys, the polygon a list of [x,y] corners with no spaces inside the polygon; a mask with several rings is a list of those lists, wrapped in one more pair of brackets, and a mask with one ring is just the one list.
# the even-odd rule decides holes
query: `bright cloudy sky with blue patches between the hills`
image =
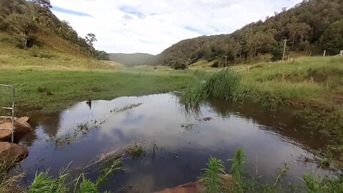
{"label": "bright cloudy sky with blue patches between the hills", "polygon": [[51,0],[79,36],[108,53],[159,54],[183,39],[230,34],[302,0]]}

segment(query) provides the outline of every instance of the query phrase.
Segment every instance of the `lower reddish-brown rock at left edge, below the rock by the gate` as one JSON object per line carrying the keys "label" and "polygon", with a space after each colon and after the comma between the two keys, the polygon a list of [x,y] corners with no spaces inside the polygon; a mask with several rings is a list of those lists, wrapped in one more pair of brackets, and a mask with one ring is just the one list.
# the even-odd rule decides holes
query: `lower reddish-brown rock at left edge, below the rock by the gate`
{"label": "lower reddish-brown rock at left edge, below the rock by the gate", "polygon": [[11,144],[9,142],[0,142],[0,159],[6,162],[18,162],[23,160],[29,151],[19,144]]}

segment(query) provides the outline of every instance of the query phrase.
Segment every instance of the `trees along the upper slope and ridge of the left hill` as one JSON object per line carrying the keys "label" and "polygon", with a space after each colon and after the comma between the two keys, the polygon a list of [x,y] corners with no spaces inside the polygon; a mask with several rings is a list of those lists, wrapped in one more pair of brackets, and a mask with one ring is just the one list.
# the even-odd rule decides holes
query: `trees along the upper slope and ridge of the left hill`
{"label": "trees along the upper slope and ridge of the left hill", "polygon": [[7,31],[16,39],[16,46],[30,49],[39,46],[37,36],[54,33],[79,48],[83,54],[96,59],[109,59],[105,51],[94,49],[94,34],[82,38],[70,26],[68,21],[61,21],[52,12],[49,0],[1,0],[0,31]]}

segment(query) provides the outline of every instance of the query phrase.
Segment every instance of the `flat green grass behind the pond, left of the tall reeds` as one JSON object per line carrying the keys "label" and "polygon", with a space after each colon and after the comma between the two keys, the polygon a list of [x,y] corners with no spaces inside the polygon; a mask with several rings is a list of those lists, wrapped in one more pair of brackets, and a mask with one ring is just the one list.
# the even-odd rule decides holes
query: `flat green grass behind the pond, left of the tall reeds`
{"label": "flat green grass behind the pond, left of the tall reeds", "polygon": [[[173,71],[41,71],[0,70],[1,84],[16,88],[16,107],[31,111],[54,112],[88,99],[114,99],[182,89],[190,76]],[[4,89],[2,96],[4,95]],[[1,97],[1,104],[9,104]],[[4,102],[4,100],[7,100]]]}

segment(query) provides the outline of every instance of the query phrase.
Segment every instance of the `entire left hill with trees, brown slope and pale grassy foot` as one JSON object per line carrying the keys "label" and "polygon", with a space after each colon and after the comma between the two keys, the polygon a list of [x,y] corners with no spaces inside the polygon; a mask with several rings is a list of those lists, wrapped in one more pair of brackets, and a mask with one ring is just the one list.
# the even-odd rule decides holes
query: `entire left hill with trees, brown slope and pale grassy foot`
{"label": "entire left hill with trees, brown slope and pale grassy foot", "polygon": [[49,1],[0,1],[2,67],[101,67],[103,62],[94,59],[106,59],[106,52],[95,50],[94,41],[94,34],[82,38],[67,21],[52,14]]}

